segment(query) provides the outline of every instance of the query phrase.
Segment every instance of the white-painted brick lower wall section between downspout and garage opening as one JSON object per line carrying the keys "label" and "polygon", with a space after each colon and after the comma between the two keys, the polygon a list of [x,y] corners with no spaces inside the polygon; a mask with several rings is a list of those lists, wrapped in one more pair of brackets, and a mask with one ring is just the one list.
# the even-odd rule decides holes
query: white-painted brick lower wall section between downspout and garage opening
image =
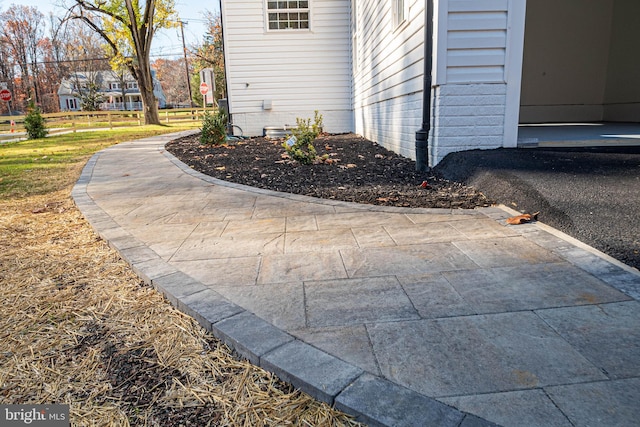
{"label": "white-painted brick lower wall section between downspout and garage opening", "polygon": [[429,164],[456,151],[502,147],[506,97],[504,83],[436,87]]}

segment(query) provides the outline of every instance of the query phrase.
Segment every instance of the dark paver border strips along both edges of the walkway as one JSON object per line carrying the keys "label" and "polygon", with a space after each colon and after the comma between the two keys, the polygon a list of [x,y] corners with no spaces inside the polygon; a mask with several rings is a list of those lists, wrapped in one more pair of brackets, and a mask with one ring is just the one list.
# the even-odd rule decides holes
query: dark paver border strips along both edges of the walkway
{"label": "dark paver border strips along both edges of the walkway", "polygon": [[[362,205],[354,203],[320,201],[307,196],[276,193],[207,177],[168,154],[163,148],[165,142],[166,139],[158,142],[162,145],[160,151],[181,170],[207,182],[299,201],[362,208]],[[145,283],[156,288],[172,305],[192,316],[241,356],[314,398],[335,405],[339,410],[353,415],[356,420],[371,426],[495,426],[435,399],[364,373],[360,368],[274,327],[166,263],[157,253],[123,230],[87,192],[87,185],[100,154],[96,153],[87,162],[71,192],[78,209],[94,231],[129,263]],[[406,211],[406,208],[376,206],[372,206],[370,210],[398,209]],[[415,211],[442,213],[451,210]],[[474,211],[466,213],[469,212]]]}

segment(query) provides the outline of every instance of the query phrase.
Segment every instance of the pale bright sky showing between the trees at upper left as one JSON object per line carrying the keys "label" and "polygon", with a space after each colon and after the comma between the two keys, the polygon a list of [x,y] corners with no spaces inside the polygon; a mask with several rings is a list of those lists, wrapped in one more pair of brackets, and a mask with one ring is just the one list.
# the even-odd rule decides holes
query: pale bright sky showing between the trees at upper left
{"label": "pale bright sky showing between the trees at upper left", "polygon": [[[49,16],[62,16],[64,9],[60,6],[60,0],[0,0],[0,10],[8,9],[12,4],[32,6]],[[71,4],[72,0],[66,0]],[[206,11],[217,12],[220,9],[219,0],[175,0],[176,11],[180,19],[185,22],[184,38],[187,48],[202,42],[206,31],[204,14]],[[182,56],[182,38],[180,28],[163,30],[157,33],[153,39],[152,60],[159,57]]]}

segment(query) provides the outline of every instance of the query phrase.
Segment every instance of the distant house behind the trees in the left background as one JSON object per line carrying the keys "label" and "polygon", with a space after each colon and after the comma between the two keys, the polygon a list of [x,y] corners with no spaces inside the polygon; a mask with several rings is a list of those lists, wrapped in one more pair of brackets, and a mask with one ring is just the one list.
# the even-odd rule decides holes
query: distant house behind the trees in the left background
{"label": "distant house behind the trees in the left background", "polygon": [[[158,100],[158,107],[166,105],[166,99],[160,82],[155,77],[155,71],[151,71],[154,81],[153,93]],[[88,93],[94,86],[101,102],[100,110],[142,110],[142,97],[138,82],[130,75],[124,78],[112,70],[77,72],[62,80],[58,89],[60,99],[60,111],[81,111],[82,96],[80,93]]]}

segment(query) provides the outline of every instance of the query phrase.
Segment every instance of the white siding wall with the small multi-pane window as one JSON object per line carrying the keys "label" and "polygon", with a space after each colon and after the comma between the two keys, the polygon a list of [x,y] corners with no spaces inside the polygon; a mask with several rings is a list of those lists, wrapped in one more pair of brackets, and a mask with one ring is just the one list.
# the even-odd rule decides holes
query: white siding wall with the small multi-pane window
{"label": "white siding wall with the small multi-pane window", "polygon": [[310,31],[270,31],[263,0],[222,5],[229,106],[246,135],[314,110],[327,131],[353,130],[350,0],[310,0]]}

